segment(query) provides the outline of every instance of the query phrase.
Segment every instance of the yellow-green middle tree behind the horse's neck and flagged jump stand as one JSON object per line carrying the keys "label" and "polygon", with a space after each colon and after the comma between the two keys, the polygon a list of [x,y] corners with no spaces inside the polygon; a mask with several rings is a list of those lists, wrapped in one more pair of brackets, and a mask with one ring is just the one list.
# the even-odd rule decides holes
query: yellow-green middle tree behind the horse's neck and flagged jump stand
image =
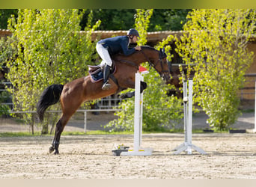
{"label": "yellow-green middle tree behind the horse's neck and flagged jump stand", "polygon": [[[137,10],[135,28],[141,36],[138,45],[147,43],[147,28],[152,13],[152,9]],[[171,39],[168,38],[168,40]],[[159,46],[156,46],[156,48],[159,49],[165,46],[165,44],[166,41],[159,43]],[[181,101],[175,96],[167,95],[171,85],[165,85],[165,82],[162,82],[156,70],[151,70],[148,64],[144,64],[143,66],[147,67],[148,70],[150,69],[150,73],[144,75],[144,82],[147,82],[147,89],[143,95],[143,130],[152,132],[163,130],[166,127],[174,127],[180,118],[183,117],[180,113],[182,111]],[[118,116],[118,120],[113,120],[106,127],[111,128],[111,130],[132,131],[134,125],[134,98],[123,100],[119,108],[122,111],[115,113]]]}

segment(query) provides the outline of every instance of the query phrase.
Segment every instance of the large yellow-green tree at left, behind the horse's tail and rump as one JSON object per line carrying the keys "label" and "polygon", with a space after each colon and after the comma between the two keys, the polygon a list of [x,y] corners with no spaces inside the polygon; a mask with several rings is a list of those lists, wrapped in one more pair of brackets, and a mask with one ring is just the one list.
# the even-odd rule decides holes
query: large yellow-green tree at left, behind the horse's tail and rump
{"label": "large yellow-green tree at left, behind the horse's tail and rump", "polygon": [[[89,15],[89,19],[91,14]],[[15,61],[9,61],[8,79],[15,89],[15,111],[35,111],[40,93],[52,84],[64,84],[87,74],[87,65],[94,60],[94,43],[88,22],[81,34],[79,10],[19,10],[18,18],[10,19],[12,46],[17,49]],[[53,106],[56,109],[58,105]],[[34,124],[31,114],[23,116]]]}

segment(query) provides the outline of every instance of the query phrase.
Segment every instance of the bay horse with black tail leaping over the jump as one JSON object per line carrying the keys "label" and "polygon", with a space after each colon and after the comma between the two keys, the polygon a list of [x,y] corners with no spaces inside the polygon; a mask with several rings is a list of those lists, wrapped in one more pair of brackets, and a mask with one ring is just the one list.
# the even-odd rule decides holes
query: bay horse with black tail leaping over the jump
{"label": "bay horse with black tail leaping over the jump", "polygon": [[[132,55],[115,55],[112,57],[113,64],[116,70],[109,78],[112,87],[109,90],[102,90],[103,81],[94,82],[91,76],[85,76],[68,82],[65,85],[50,85],[46,88],[37,102],[37,114],[39,119],[43,120],[46,108],[57,102],[61,102],[62,114],[55,127],[55,135],[52,141],[52,146],[49,147],[49,153],[55,150],[58,154],[58,147],[61,138],[61,132],[64,130],[70,117],[80,107],[82,102],[100,99],[115,93],[119,93],[127,88],[135,88],[135,73],[138,67],[143,62],[148,62],[159,75],[165,79],[166,82],[170,81],[170,73],[166,54],[164,49],[159,51],[150,46],[141,46],[141,51],[136,51]],[[114,81],[113,81],[114,80]],[[141,92],[147,88],[145,82],[141,82]],[[124,93],[121,98],[134,96],[134,92]]]}

